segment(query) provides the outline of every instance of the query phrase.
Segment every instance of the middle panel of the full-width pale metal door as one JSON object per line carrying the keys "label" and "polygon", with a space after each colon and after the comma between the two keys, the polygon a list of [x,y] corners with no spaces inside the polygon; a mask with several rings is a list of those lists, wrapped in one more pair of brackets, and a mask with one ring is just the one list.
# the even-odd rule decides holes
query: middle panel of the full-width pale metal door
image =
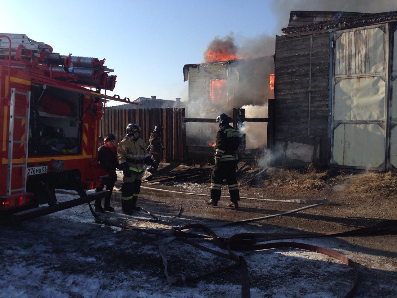
{"label": "middle panel of the full-width pale metal door", "polygon": [[380,77],[342,79],[335,84],[334,120],[384,120],[385,82]]}

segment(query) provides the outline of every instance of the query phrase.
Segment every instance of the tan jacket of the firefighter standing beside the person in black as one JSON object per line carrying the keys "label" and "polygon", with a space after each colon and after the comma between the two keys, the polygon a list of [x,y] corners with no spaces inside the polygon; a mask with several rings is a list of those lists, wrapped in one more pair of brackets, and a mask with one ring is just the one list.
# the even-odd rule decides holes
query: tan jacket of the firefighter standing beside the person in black
{"label": "tan jacket of the firefighter standing beside the person in black", "polygon": [[[140,137],[134,141],[131,137],[125,137],[118,145],[117,158],[119,163],[128,163],[131,171],[139,174],[143,171],[143,159],[149,155],[146,152],[146,143]],[[135,162],[132,162],[135,160]]]}

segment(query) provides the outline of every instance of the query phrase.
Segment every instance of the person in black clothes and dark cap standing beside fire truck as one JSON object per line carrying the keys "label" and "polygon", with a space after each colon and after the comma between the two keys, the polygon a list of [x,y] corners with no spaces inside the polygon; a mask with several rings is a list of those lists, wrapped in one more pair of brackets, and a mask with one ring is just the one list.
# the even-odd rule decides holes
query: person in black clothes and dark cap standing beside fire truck
{"label": "person in black clothes and dark cap standing beside fire truck", "polygon": [[103,145],[98,149],[99,167],[109,174],[108,178],[103,178],[103,185],[96,189],[96,192],[103,190],[106,185],[106,190],[110,190],[110,194],[105,197],[104,208],[102,208],[101,199],[95,200],[95,211],[105,213],[105,211],[114,212],[114,208],[110,206],[110,197],[112,196],[114,183],[117,181],[116,168],[119,166],[117,160],[117,146],[116,135],[107,134],[104,137]]}

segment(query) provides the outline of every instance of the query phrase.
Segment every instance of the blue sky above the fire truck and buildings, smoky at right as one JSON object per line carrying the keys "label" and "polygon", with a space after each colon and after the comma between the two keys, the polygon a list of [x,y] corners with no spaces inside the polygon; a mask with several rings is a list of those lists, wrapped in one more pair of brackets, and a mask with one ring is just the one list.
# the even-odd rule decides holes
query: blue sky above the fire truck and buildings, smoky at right
{"label": "blue sky above the fire truck and buildings, smoky at right", "polygon": [[[23,33],[62,55],[106,58],[118,75],[108,94],[187,100],[183,66],[200,63],[215,37],[238,46],[288,25],[290,10],[397,10],[397,1],[3,1],[0,32]],[[376,3],[376,4],[375,4]],[[326,6],[328,4],[328,7]]]}

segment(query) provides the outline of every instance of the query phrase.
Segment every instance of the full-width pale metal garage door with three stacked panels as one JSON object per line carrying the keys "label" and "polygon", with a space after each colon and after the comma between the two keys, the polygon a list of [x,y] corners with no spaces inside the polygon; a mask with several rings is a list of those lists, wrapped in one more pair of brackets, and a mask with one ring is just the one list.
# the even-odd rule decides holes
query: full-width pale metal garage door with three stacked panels
{"label": "full-width pale metal garage door with three stacked panels", "polygon": [[385,169],[387,28],[335,33],[331,165]]}

